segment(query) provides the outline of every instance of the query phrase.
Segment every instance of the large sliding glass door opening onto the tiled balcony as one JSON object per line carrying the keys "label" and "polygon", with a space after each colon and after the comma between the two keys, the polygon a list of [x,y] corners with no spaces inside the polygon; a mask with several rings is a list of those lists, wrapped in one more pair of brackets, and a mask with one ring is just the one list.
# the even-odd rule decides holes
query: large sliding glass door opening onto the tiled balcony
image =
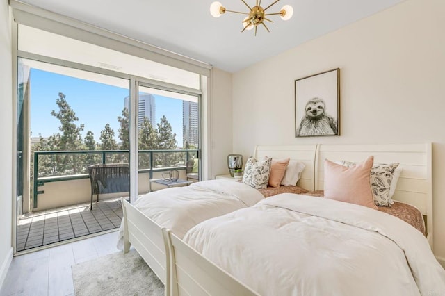
{"label": "large sliding glass door opening onto the tiled balcony", "polygon": [[120,197],[200,179],[200,74],[18,31],[16,252],[111,231]]}

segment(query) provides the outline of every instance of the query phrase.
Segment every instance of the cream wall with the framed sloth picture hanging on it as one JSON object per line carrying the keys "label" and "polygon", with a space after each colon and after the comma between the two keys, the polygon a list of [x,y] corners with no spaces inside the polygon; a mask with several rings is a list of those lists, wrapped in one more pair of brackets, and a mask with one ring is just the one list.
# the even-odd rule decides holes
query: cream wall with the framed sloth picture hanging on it
{"label": "cream wall with the framed sloth picture hanging on it", "polygon": [[[443,0],[407,0],[237,72],[234,151],[249,156],[256,144],[433,142],[434,249],[445,258],[444,15]],[[294,80],[337,67],[341,136],[295,138]]]}

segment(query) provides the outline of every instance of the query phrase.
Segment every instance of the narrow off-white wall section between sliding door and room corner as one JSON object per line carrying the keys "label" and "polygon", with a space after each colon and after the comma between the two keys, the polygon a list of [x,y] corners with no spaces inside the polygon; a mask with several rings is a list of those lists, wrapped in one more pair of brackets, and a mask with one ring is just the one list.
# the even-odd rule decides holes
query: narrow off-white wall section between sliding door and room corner
{"label": "narrow off-white wall section between sliding door and room corner", "polygon": [[232,74],[213,68],[211,94],[211,176],[229,174],[232,154]]}

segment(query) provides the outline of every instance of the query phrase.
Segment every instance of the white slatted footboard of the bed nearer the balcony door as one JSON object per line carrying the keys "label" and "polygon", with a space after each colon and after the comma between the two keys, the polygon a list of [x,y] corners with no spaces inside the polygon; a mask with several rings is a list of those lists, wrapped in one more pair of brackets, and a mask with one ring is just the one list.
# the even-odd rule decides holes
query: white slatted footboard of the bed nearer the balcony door
{"label": "white slatted footboard of the bed nearer the balcony door", "polygon": [[170,256],[164,228],[121,198],[124,213],[124,253],[130,245],[136,249],[157,277],[164,283],[165,295],[170,295]]}

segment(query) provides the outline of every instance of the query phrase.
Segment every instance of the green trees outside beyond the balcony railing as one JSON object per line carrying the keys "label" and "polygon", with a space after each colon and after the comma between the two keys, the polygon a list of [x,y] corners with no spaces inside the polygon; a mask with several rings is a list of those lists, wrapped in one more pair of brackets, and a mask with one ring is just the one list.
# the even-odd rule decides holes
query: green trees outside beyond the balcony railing
{"label": "green trees outside beyond the balcony railing", "polygon": [[[88,131],[85,138],[82,139],[81,131],[84,130],[83,124],[77,124],[79,118],[68,104],[65,94],[59,92],[56,99],[58,112],[51,111],[51,115],[60,120],[58,133],[54,133],[49,138],[42,138],[31,146],[31,155],[34,151],[95,151],[100,150],[129,150],[129,110],[124,108],[122,116],[118,116],[120,128],[118,129],[118,137],[122,142],[121,145],[115,140],[115,132],[111,129],[110,124],[106,124],[100,133],[100,142],[96,142],[94,133]],[[168,122],[165,115],[161,118],[161,122],[153,126],[147,117],[144,118],[138,129],[138,149],[139,167],[148,168],[149,154],[143,153],[143,150],[175,150],[177,149],[176,134],[172,131],[172,126]],[[186,143],[186,149],[196,149],[193,145]],[[108,154],[107,163],[128,163],[128,152],[122,154]],[[189,158],[195,155],[189,153]],[[173,167],[178,163],[184,163],[186,153],[153,153],[153,167]],[[63,176],[67,174],[86,173],[86,167],[94,163],[101,163],[102,156],[99,154],[86,155],[64,155],[51,154],[40,155],[38,159],[39,176]],[[33,157],[31,157],[31,179],[33,179]]]}

